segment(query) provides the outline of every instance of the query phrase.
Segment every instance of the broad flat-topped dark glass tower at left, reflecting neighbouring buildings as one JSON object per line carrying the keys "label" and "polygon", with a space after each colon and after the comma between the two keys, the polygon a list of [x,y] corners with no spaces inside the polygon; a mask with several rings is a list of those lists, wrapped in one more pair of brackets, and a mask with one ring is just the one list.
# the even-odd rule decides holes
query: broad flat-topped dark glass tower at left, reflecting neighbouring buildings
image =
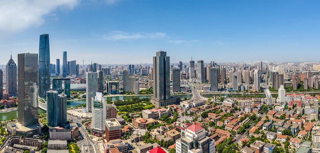
{"label": "broad flat-topped dark glass tower at left, reflecting neighbouring buildings", "polygon": [[18,121],[29,126],[38,123],[38,54],[18,54]]}

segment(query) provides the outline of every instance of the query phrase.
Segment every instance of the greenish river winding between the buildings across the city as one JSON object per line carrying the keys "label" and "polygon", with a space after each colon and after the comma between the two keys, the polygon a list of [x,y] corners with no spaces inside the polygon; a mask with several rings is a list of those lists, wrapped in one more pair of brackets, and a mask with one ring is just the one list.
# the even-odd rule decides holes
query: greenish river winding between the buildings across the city
{"label": "greenish river winding between the buildings across the city", "polygon": [[[177,95],[180,96],[181,98],[190,98],[192,95]],[[128,99],[133,99],[133,98],[149,98],[151,99],[151,95],[146,95],[146,96],[109,96],[109,97],[104,97],[107,101],[115,101],[115,100],[128,100]],[[76,105],[81,105],[85,103],[85,99],[79,99],[79,100],[72,100],[72,101],[67,101],[67,107],[74,107]],[[39,114],[45,113],[45,111],[41,110],[39,108]],[[8,120],[11,118],[17,118],[18,117],[18,111],[13,111],[13,112],[6,112],[6,113],[0,113],[0,121],[3,120]]]}

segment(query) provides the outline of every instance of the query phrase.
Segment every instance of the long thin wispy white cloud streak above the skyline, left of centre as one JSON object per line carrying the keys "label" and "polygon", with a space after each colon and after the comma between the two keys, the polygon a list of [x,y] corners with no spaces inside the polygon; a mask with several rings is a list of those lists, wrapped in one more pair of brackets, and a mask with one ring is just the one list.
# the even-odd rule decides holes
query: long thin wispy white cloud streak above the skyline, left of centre
{"label": "long thin wispy white cloud streak above the skyline, left of centre", "polygon": [[142,39],[142,38],[162,38],[165,37],[166,34],[162,32],[155,33],[125,33],[122,31],[113,31],[109,35],[104,36],[107,40],[134,40],[134,39]]}

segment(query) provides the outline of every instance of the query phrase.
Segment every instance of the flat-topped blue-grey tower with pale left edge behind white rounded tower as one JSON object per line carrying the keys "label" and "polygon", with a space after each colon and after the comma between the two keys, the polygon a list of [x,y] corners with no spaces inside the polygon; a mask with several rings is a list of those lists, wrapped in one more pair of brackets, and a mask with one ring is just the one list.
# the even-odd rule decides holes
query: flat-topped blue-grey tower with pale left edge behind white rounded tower
{"label": "flat-topped blue-grey tower with pale left edge behind white rounded tower", "polygon": [[92,98],[96,96],[98,92],[98,73],[97,72],[87,72],[85,73],[86,78],[86,109],[88,112],[92,111]]}

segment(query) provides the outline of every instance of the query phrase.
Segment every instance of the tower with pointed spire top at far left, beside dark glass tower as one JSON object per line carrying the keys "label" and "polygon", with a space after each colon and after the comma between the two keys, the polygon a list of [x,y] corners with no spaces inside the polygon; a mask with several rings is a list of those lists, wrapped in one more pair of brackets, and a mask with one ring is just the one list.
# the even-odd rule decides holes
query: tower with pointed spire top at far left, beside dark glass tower
{"label": "tower with pointed spire top at far left, beside dark glass tower", "polygon": [[6,65],[6,91],[11,97],[17,96],[17,65],[12,55]]}

